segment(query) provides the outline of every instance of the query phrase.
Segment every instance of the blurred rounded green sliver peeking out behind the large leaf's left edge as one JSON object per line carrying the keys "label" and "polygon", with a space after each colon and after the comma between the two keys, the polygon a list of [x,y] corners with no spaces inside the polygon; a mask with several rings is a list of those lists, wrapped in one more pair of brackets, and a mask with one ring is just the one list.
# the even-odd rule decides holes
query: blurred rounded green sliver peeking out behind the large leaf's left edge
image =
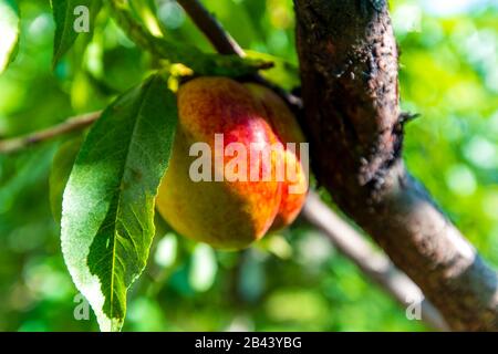
{"label": "blurred rounded green sliver peeking out behind the large leaf's left edge", "polygon": [[80,152],[82,136],[64,142],[58,149],[50,171],[50,206],[54,219],[60,222],[62,215],[62,195],[73,169],[77,152]]}

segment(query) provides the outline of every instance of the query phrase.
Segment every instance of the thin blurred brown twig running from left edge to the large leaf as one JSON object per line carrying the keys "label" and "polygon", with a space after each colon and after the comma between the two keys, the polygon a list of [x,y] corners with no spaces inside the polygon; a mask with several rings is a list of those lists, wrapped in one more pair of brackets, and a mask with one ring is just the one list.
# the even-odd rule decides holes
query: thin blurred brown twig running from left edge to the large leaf
{"label": "thin blurred brown twig running from left edge to the large leaf", "polygon": [[68,118],[65,122],[24,136],[0,140],[0,154],[12,154],[29,146],[50,140],[60,135],[84,129],[95,122],[102,112],[92,112]]}

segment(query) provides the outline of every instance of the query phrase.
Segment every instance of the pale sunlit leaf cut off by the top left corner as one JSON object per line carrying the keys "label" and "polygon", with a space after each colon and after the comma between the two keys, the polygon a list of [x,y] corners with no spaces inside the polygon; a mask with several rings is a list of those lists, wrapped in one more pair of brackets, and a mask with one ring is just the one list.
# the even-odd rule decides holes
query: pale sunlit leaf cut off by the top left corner
{"label": "pale sunlit leaf cut off by the top left corner", "polygon": [[0,74],[15,59],[19,32],[19,9],[15,1],[0,0]]}

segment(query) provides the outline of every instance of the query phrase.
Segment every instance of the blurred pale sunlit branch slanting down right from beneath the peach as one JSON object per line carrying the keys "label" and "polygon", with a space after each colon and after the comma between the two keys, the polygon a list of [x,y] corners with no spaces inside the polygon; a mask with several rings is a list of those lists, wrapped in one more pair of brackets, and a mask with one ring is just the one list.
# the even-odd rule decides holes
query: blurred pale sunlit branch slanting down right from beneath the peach
{"label": "blurred pale sunlit branch slanting down right from beneath the peach", "polygon": [[422,290],[401,272],[390,259],[375,251],[346,221],[334,214],[320,197],[310,192],[301,216],[326,236],[330,241],[363,273],[390,293],[402,306],[421,302],[422,320],[436,330],[449,331],[434,305],[424,299]]}

